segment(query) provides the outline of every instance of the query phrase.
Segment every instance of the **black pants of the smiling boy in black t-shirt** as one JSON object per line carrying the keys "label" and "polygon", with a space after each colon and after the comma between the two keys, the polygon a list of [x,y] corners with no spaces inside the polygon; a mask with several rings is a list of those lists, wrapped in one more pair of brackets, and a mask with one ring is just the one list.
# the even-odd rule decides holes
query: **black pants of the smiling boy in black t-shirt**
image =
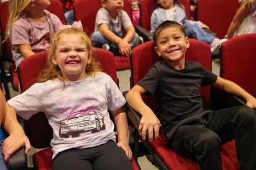
{"label": "black pants of the smiling boy in black t-shirt", "polygon": [[201,123],[188,123],[177,128],[171,143],[175,152],[186,157],[194,156],[201,169],[218,170],[222,169],[222,144],[235,139],[241,169],[256,168],[256,115],[253,109],[230,107],[204,111],[192,117],[191,122],[197,118]]}

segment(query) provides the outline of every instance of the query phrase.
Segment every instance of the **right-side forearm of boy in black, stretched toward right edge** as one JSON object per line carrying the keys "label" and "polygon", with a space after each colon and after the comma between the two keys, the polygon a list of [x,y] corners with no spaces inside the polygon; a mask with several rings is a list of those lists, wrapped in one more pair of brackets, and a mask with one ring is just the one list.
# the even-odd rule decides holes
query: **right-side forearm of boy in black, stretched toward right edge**
{"label": "right-side forearm of boy in black, stretched toward right edge", "polygon": [[246,90],[239,87],[239,85],[237,85],[236,83],[231,82],[230,80],[223,79],[222,77],[218,77],[216,82],[212,85],[226,91],[227,93],[231,93],[232,95],[236,95],[246,99],[247,106],[251,107],[252,109],[256,108],[256,99],[254,98],[254,96],[247,93]]}

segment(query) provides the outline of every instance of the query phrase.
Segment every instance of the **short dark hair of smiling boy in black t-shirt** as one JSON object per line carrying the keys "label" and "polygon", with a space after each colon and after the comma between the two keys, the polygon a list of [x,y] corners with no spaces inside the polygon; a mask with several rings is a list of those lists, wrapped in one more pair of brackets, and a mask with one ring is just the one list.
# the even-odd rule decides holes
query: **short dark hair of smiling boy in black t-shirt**
{"label": "short dark hair of smiling boy in black t-shirt", "polygon": [[162,32],[162,30],[166,28],[173,28],[173,27],[180,29],[180,31],[182,31],[182,34],[186,37],[186,31],[183,25],[181,25],[180,23],[177,23],[176,21],[166,20],[166,21],[163,21],[161,25],[158,26],[158,28],[156,28],[156,31],[154,31],[153,40],[154,40],[154,45],[156,45],[156,47],[158,46],[158,36]]}

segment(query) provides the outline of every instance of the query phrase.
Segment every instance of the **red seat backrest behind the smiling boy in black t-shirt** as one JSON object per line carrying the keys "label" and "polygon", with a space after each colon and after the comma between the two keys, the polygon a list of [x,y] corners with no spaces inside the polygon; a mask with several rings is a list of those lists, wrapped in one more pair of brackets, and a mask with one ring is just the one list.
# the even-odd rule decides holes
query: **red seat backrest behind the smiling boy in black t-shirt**
{"label": "red seat backrest behind the smiling boy in black t-shirt", "polygon": [[[131,63],[131,87],[148,73],[149,69],[159,61],[159,56],[154,50],[154,42],[148,41],[132,50],[130,55]],[[190,48],[186,50],[186,61],[198,61],[204,68],[211,71],[210,47],[204,42],[190,39]],[[201,98],[204,109],[209,109],[210,86],[201,87]],[[158,115],[158,106],[156,106],[156,97],[142,96],[145,103]]]}

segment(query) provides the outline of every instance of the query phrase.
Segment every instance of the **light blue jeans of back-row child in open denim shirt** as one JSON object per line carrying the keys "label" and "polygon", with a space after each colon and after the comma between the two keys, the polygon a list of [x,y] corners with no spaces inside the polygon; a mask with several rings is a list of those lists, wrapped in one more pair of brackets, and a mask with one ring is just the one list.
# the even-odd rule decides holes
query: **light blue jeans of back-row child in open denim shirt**
{"label": "light blue jeans of back-row child in open denim shirt", "polygon": [[206,31],[204,31],[204,29],[200,28],[197,25],[191,25],[188,28],[186,28],[186,36],[193,37],[193,38],[197,39],[198,41],[206,42],[209,45],[212,43],[212,41],[215,38],[217,38],[215,36],[212,36],[212,35],[206,33]]}

